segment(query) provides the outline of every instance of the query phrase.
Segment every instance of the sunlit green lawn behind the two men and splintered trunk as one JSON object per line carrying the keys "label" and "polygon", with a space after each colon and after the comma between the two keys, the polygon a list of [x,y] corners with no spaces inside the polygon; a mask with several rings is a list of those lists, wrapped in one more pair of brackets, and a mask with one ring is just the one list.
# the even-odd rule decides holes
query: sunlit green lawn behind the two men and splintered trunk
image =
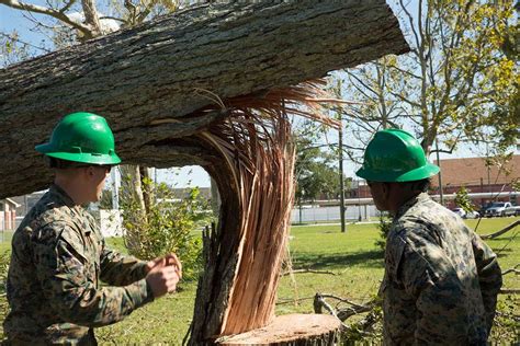
{"label": "sunlit green lawn behind the two men and splintered trunk", "polygon": [[[518,219],[518,218],[517,218]],[[483,219],[477,233],[491,233],[513,218]],[[475,228],[477,220],[467,220]],[[316,292],[334,293],[355,302],[366,302],[377,292],[383,276],[383,252],[374,244],[378,239],[375,223],[339,226],[295,226],[291,230],[291,257],[295,269],[328,270],[332,274],[295,274],[284,276],[279,287],[276,314],[313,312]],[[499,254],[502,270],[520,263],[520,228],[487,243]],[[109,239],[113,247],[124,249],[121,239]],[[0,244],[1,249],[9,249]],[[520,288],[520,276],[505,276],[504,288]],[[101,344],[170,344],[179,345],[193,314],[196,282],[184,282],[180,292],[136,310],[125,321],[97,330]],[[517,315],[516,325],[499,320],[500,342],[513,342],[518,333],[520,305],[518,296],[500,296],[500,309]],[[348,320],[349,321],[349,320]],[[347,321],[347,322],[348,322]],[[517,327],[517,331],[513,328]]]}

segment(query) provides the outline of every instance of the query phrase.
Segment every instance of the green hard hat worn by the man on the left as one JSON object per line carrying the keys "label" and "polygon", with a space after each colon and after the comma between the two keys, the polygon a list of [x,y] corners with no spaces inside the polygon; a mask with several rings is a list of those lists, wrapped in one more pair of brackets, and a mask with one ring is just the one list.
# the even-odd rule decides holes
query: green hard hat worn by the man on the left
{"label": "green hard hat worn by the man on the left", "polygon": [[47,157],[60,160],[117,164],[114,135],[105,118],[92,113],[78,112],[65,116],[53,130],[48,143],[36,146]]}

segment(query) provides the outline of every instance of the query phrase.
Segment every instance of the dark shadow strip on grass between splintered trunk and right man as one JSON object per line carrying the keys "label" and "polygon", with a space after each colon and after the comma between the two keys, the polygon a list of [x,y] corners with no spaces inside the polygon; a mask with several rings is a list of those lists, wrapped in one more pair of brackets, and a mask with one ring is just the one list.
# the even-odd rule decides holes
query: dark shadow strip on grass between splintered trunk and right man
{"label": "dark shadow strip on grass between splintered trunk and right man", "polygon": [[337,269],[348,266],[381,268],[384,265],[384,252],[371,250],[357,253],[315,254],[299,253],[293,258],[294,268]]}

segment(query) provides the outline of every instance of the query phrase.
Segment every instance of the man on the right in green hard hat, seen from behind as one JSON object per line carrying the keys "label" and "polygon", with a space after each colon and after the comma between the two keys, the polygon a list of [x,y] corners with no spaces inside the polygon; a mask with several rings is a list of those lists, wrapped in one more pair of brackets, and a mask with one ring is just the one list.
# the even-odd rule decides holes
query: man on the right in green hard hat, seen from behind
{"label": "man on the right in green hard hat, seen from behind", "polygon": [[408,132],[387,129],[369,143],[357,174],[394,221],[386,239],[386,345],[485,345],[501,272],[497,256],[463,220],[426,193],[439,168]]}

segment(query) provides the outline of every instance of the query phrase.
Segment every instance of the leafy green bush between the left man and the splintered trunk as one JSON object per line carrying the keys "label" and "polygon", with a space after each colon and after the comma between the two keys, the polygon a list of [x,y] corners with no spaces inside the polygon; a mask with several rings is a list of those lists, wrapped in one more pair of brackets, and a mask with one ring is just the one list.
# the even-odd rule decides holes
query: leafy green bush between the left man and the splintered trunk
{"label": "leafy green bush between the left man and the splintered trunk", "polygon": [[202,240],[193,230],[211,222],[208,201],[196,187],[189,189],[184,198],[176,198],[168,185],[148,178],[144,180],[143,187],[145,194],[151,196],[146,212],[135,198],[122,200],[128,253],[142,260],[176,253],[183,264],[183,278],[195,279],[202,268]]}

